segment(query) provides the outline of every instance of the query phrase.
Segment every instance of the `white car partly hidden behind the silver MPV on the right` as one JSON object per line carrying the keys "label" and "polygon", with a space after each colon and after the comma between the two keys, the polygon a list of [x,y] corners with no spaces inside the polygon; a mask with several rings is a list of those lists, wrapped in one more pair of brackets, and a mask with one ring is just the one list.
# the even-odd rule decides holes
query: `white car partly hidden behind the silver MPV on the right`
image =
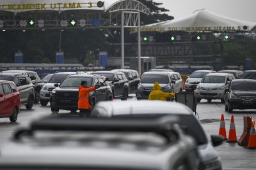
{"label": "white car partly hidden behind the silver MPV on the right", "polygon": [[209,73],[216,73],[212,70],[196,70],[185,81],[186,92],[195,92],[196,86],[200,83],[202,78]]}

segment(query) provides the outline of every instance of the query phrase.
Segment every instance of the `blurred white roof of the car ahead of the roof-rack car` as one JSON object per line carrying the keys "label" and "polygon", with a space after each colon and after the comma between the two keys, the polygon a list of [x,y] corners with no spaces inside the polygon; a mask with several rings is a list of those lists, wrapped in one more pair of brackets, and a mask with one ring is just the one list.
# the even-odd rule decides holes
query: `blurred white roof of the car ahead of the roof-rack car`
{"label": "blurred white roof of the car ahead of the roof-rack car", "polygon": [[[161,107],[159,107],[161,106]],[[181,103],[166,101],[100,101],[95,108],[104,108],[109,117],[113,115],[132,115],[132,114],[183,114],[191,115],[193,111],[188,106]]]}

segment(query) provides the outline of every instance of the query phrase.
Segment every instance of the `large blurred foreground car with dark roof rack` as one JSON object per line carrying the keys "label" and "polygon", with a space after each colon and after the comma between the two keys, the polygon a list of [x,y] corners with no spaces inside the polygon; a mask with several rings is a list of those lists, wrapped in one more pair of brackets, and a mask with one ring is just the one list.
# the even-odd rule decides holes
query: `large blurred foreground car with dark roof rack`
{"label": "large blurred foreground car with dark roof rack", "polygon": [[177,117],[42,118],[0,148],[0,169],[193,170],[195,139],[176,123]]}

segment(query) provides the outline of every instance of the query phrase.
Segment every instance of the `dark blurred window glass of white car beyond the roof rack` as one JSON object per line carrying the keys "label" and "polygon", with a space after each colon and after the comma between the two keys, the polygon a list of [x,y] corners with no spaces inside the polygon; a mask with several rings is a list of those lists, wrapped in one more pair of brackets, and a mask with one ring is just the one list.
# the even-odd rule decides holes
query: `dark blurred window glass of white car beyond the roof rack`
{"label": "dark blurred window glass of white car beyond the roof rack", "polygon": [[[162,117],[164,115],[168,114],[133,114],[133,115],[115,115],[113,117],[127,117],[127,118],[137,118],[137,117],[150,117],[150,118],[158,118]],[[175,116],[180,117],[180,124],[182,125],[182,129],[189,135],[193,136],[196,139],[196,142],[198,145],[202,145],[207,143],[207,138],[205,136],[205,133],[200,126],[199,122],[196,120],[196,118],[193,115],[176,115]]]}

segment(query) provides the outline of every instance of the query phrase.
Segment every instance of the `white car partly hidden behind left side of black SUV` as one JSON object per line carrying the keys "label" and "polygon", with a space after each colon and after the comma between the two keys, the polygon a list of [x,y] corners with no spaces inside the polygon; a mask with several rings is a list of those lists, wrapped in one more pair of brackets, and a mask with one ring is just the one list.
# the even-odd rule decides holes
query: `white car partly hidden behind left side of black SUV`
{"label": "white car partly hidden behind left side of black SUV", "polygon": [[40,90],[40,104],[42,106],[46,106],[50,101],[50,93],[53,89],[56,88],[54,87],[54,84],[59,83],[60,85],[61,81],[70,74],[76,74],[76,72],[58,72],[51,76],[49,81],[45,83],[45,85]]}

